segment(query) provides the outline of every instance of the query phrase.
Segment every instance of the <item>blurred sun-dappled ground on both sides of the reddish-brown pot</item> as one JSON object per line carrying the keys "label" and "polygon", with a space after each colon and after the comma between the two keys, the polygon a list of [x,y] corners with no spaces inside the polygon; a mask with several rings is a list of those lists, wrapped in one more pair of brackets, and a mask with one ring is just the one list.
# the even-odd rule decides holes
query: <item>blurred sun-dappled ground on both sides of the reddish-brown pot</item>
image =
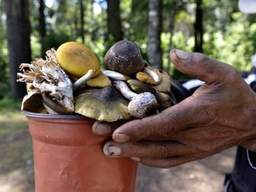
{"label": "blurred sun-dappled ground on both sides of the reddish-brown pot", "polygon": [[[236,150],[171,169],[139,166],[136,192],[219,192]],[[31,140],[18,111],[0,114],[0,192],[34,192]]]}

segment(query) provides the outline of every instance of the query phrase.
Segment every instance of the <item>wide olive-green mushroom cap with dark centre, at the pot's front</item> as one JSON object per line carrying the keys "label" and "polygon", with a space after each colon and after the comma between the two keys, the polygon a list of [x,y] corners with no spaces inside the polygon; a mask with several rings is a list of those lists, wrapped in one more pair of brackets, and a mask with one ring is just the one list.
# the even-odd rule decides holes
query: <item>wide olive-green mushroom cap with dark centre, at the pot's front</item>
{"label": "wide olive-green mushroom cap with dark centre, at the pot's front", "polygon": [[97,92],[78,95],[75,98],[75,112],[93,119],[114,122],[130,118],[128,104],[129,101],[110,85]]}

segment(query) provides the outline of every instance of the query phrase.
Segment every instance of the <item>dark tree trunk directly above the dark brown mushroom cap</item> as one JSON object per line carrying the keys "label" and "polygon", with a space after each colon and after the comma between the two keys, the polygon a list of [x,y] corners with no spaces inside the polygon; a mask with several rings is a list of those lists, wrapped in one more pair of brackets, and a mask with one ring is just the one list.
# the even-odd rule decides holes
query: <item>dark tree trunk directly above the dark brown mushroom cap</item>
{"label": "dark tree trunk directly above the dark brown mushroom cap", "polygon": [[114,41],[123,39],[122,24],[120,17],[120,2],[119,0],[107,0],[108,8],[108,36],[112,35]]}

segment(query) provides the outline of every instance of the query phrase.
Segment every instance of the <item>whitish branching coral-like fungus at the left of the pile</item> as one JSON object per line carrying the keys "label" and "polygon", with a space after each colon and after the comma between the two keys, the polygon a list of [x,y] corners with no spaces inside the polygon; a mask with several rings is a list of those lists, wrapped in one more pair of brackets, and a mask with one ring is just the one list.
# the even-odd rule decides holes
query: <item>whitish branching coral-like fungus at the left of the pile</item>
{"label": "whitish branching coral-like fungus at the left of the pile", "polygon": [[[74,99],[72,83],[62,68],[60,68],[55,50],[46,52],[46,59],[35,59],[28,63],[22,63],[18,73],[18,82],[33,85],[33,90],[47,93],[52,101],[65,108],[66,113],[74,112]],[[53,109],[54,110],[54,109]]]}

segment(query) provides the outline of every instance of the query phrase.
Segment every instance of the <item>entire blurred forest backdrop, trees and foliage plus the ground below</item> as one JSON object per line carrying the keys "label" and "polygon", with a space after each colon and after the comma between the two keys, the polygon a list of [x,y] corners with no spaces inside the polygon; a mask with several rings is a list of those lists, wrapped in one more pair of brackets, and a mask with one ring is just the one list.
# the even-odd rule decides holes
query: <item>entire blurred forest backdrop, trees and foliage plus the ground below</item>
{"label": "entire blurred forest backdrop, trees and foliage plus the ground below", "polygon": [[[108,48],[121,39],[136,42],[153,68],[174,79],[189,77],[170,62],[173,48],[248,71],[256,53],[256,14],[239,12],[238,0],[0,0],[0,191],[34,191],[28,122],[19,111],[26,92],[16,83],[20,63],[77,41],[104,67]],[[168,170],[140,166],[137,191],[222,191],[234,156],[232,148]]]}

